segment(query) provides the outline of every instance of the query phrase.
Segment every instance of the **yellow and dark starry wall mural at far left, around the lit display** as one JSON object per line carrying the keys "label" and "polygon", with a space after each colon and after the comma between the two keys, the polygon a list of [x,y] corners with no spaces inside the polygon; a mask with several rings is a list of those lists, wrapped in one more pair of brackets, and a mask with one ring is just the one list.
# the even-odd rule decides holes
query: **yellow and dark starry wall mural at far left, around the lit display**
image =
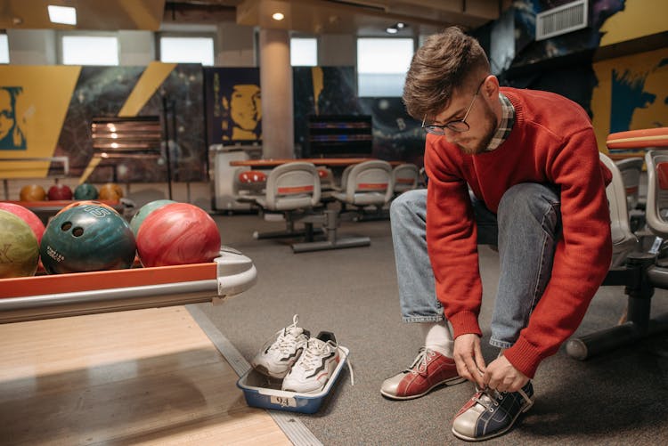
{"label": "yellow and dark starry wall mural at far left, around the lit display", "polygon": [[[0,178],[43,178],[69,160],[89,182],[203,181],[207,148],[199,64],[0,66]],[[159,158],[94,157],[93,118],[159,116]]]}

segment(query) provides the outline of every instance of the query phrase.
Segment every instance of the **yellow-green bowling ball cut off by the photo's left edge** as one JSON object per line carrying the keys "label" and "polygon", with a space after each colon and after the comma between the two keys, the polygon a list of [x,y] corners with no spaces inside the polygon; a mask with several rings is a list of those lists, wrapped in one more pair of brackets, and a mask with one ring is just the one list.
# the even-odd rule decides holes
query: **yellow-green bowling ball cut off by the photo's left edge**
{"label": "yellow-green bowling ball cut off by the photo's left edge", "polygon": [[0,210],[0,279],[32,276],[39,263],[39,245],[28,223]]}

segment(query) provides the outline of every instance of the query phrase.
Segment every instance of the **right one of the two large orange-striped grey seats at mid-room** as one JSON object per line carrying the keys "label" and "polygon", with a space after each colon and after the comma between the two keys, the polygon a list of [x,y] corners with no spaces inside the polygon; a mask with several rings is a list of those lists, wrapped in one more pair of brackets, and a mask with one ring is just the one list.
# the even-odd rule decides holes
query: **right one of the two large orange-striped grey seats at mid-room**
{"label": "right one of the two large orange-striped grey seats at mid-room", "polygon": [[371,159],[346,168],[341,177],[341,191],[334,192],[333,197],[344,210],[356,209],[354,219],[363,220],[370,207],[380,215],[393,195],[392,166],[387,161]]}

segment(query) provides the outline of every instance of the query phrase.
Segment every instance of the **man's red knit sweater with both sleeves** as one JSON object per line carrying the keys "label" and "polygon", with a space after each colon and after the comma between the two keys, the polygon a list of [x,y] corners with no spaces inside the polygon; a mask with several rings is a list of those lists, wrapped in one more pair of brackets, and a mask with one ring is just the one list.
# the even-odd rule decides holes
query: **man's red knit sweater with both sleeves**
{"label": "man's red knit sweater with both sleeves", "polygon": [[590,118],[579,105],[554,93],[505,87],[501,93],[515,107],[515,125],[496,150],[464,155],[444,137],[428,134],[428,252],[454,336],[482,336],[477,228],[467,183],[494,213],[503,193],[519,182],[560,187],[563,233],[550,281],[527,327],[504,353],[534,377],[538,364],[580,325],[606,276],[612,244],[605,188],[612,175],[599,161]]}

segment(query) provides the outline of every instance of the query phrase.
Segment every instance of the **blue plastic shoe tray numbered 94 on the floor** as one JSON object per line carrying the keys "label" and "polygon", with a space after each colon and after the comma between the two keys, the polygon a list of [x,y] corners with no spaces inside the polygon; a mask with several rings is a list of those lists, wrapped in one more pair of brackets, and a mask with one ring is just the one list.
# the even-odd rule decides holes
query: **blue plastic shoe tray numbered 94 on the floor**
{"label": "blue plastic shoe tray numbered 94 on the floor", "polygon": [[330,394],[336,384],[350,351],[341,345],[338,346],[341,361],[334,369],[325,387],[319,393],[295,393],[281,390],[281,381],[265,377],[255,369],[250,369],[237,381],[237,387],[243,391],[248,406],[288,410],[291,412],[315,413],[320,409],[322,401]]}

